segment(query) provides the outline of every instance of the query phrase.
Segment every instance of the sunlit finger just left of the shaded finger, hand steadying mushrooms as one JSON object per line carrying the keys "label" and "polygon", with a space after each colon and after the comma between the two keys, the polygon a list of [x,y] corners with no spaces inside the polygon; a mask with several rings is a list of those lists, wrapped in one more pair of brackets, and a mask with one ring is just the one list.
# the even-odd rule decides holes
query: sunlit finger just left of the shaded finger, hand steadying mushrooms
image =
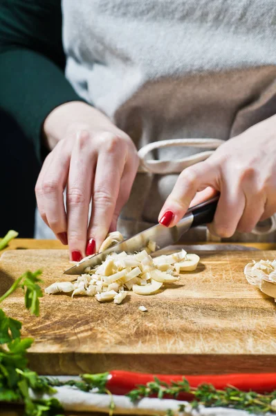
{"label": "sunlit finger just left of the shaded finger, hand steadying mushrooms", "polygon": [[88,239],[98,251],[109,232],[125,166],[125,154],[100,153],[95,171]]}

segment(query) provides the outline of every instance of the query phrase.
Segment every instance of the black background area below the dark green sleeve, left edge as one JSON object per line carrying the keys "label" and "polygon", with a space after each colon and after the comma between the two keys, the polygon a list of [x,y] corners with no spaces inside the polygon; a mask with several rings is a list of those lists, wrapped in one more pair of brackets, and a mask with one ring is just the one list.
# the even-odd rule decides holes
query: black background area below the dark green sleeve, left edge
{"label": "black background area below the dark green sleeve, left edge", "polygon": [[0,238],[9,229],[15,229],[21,238],[32,238],[39,163],[33,145],[1,108],[0,141]]}

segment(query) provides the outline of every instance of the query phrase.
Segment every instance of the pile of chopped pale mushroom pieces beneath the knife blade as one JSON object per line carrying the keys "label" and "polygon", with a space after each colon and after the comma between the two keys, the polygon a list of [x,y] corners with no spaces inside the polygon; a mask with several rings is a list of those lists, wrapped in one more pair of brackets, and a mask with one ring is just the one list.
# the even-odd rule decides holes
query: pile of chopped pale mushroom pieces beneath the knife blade
{"label": "pile of chopped pale mushroom pieces beneath the knife blade", "polygon": [[[107,250],[112,245],[122,241],[120,233],[111,233],[102,243],[100,251]],[[100,266],[86,268],[85,274],[77,277],[73,282],[62,281],[48,286],[45,292],[72,293],[74,295],[95,296],[99,302],[120,304],[128,291],[138,295],[156,293],[163,284],[178,281],[179,273],[192,271],[199,263],[199,256],[187,254],[185,250],[169,255],[152,258],[149,252],[156,249],[150,241],[145,250],[136,254],[112,253],[107,256]]]}

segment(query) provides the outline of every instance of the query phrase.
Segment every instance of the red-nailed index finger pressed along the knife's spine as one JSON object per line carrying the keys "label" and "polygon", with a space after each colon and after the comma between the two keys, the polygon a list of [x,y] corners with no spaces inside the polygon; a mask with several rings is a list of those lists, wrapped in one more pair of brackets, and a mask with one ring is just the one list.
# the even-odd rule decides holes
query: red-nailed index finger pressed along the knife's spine
{"label": "red-nailed index finger pressed along the knife's spine", "polygon": [[167,227],[176,225],[189,208],[196,191],[208,186],[218,189],[218,184],[219,168],[216,164],[205,161],[186,168],[178,176],[172,193],[160,211],[159,223]]}

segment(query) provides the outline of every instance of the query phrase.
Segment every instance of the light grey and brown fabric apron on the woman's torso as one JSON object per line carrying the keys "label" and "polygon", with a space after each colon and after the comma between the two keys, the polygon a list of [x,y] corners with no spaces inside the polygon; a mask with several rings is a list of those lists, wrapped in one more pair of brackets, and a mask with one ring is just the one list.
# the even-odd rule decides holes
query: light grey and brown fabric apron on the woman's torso
{"label": "light grey and brown fabric apron on the woman's torso", "polygon": [[[227,140],[276,112],[276,1],[63,0],[66,77],[138,149],[178,138]],[[155,150],[174,160],[199,148]],[[156,223],[177,174],[139,173],[124,234]],[[205,229],[190,239],[205,239]],[[187,239],[187,236],[185,236]],[[234,240],[271,241],[237,234]]]}

